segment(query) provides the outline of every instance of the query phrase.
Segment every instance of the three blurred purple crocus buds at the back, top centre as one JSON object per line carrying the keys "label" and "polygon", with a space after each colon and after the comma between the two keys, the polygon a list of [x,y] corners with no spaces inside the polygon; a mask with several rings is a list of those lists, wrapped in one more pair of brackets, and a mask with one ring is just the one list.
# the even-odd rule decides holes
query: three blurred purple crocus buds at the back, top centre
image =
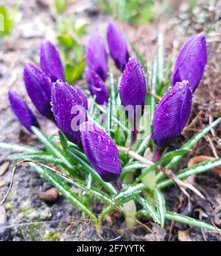
{"label": "three blurred purple crocus buds at the back, top centre", "polygon": [[[115,22],[110,22],[107,29],[107,41],[110,55],[116,67],[122,72],[129,60],[127,42]],[[85,78],[88,83],[88,90],[96,97],[97,104],[108,103],[108,89],[105,87],[105,80],[108,76],[108,54],[101,36],[95,33],[88,41],[86,48]]]}

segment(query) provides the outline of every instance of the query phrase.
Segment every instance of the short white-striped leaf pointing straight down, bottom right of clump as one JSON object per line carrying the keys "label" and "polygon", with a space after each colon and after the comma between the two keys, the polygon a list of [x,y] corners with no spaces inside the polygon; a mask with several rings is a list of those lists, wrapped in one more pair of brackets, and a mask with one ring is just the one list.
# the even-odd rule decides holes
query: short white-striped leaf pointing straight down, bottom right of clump
{"label": "short white-striped leaf pointing straight down, bottom right of clump", "polygon": [[160,218],[161,227],[164,227],[165,222],[165,215],[166,215],[166,203],[165,198],[162,192],[160,192],[158,189],[154,190],[154,197],[157,207],[157,212]]}

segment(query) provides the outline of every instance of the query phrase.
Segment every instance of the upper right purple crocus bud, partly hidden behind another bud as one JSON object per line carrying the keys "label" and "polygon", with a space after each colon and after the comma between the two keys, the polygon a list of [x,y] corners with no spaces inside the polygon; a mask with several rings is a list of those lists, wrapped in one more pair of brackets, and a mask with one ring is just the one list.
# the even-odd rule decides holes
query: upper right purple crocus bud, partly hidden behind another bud
{"label": "upper right purple crocus bud, partly hidden behind another bud", "polygon": [[206,37],[203,33],[192,36],[183,44],[172,73],[172,85],[183,80],[189,81],[192,91],[196,90],[206,66]]}

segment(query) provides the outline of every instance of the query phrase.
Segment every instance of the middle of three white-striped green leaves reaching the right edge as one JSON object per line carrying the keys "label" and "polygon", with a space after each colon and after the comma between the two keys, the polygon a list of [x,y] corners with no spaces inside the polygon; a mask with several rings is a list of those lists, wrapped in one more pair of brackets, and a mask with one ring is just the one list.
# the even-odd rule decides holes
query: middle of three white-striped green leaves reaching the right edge
{"label": "middle of three white-striped green leaves reaching the right edge", "polygon": [[[221,158],[214,159],[211,161],[205,161],[203,163],[196,164],[190,168],[183,169],[179,172],[177,177],[180,180],[183,180],[185,178],[188,178],[189,176],[197,175],[202,172],[206,172],[209,169],[213,169],[217,166],[221,166]],[[166,180],[166,181],[161,181],[161,183],[158,183],[157,187],[158,187],[158,189],[164,189],[166,186],[171,186],[172,184],[173,184],[173,182],[171,180]]]}

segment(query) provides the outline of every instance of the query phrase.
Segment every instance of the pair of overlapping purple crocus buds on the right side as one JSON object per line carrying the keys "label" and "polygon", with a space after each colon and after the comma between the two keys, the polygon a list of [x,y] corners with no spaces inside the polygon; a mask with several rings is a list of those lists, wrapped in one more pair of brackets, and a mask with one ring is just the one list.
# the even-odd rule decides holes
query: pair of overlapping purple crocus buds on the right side
{"label": "pair of overlapping purple crocus buds on the right side", "polygon": [[206,38],[192,36],[180,50],[172,73],[172,87],[156,107],[152,121],[152,141],[158,148],[169,146],[189,119],[192,95],[206,66]]}

